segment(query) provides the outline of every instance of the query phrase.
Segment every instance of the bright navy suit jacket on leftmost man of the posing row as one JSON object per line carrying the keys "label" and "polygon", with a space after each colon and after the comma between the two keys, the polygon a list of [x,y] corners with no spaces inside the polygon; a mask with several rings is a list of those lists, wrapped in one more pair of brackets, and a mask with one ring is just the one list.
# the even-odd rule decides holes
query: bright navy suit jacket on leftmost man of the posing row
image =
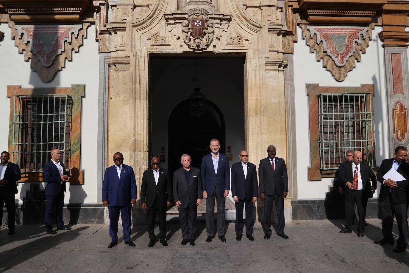
{"label": "bright navy suit jacket on leftmost man of the posing row", "polygon": [[133,168],[122,164],[119,178],[115,165],[106,168],[102,182],[102,201],[108,201],[110,206],[122,207],[129,205],[131,199],[137,199]]}

